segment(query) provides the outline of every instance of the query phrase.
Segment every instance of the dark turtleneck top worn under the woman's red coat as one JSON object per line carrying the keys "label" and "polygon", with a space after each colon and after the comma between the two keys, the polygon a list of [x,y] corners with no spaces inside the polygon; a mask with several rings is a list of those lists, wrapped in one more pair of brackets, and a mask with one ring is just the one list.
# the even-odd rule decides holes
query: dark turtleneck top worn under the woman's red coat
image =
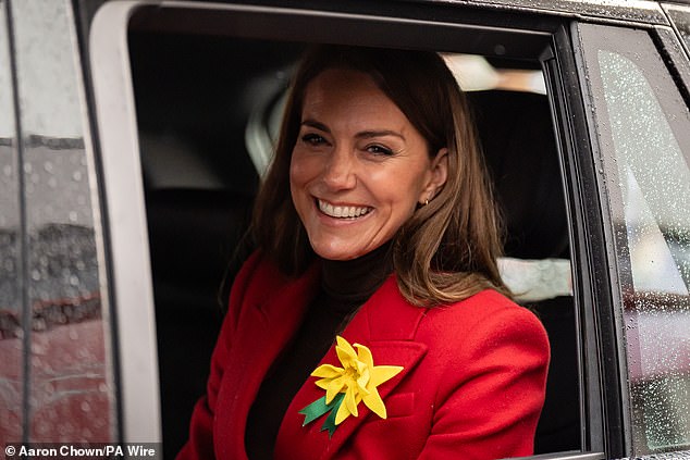
{"label": "dark turtleneck top worn under the woman's red coat", "polygon": [[245,432],[250,460],[273,458],[275,438],[289,402],[357,309],[391,273],[391,245],[348,261],[322,261],[320,289],[299,330],[266,375]]}

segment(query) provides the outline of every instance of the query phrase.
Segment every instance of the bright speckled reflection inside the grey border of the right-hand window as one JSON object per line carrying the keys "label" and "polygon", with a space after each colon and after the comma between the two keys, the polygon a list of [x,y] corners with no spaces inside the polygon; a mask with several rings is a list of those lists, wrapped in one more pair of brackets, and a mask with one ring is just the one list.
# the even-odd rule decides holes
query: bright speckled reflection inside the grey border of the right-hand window
{"label": "bright speckled reflection inside the grey border of the right-hand window", "polygon": [[632,282],[623,289],[636,453],[677,449],[690,445],[690,169],[641,70],[608,51],[599,63]]}

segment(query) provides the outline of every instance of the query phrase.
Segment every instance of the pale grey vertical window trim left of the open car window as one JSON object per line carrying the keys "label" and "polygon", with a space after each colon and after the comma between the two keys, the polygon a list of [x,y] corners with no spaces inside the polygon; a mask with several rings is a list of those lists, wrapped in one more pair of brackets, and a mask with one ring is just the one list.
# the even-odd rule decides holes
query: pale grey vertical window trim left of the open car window
{"label": "pale grey vertical window trim left of the open car window", "polygon": [[148,233],[127,24],[151,2],[106,3],[89,37],[95,110],[112,258],[122,439],[161,442],[158,356]]}

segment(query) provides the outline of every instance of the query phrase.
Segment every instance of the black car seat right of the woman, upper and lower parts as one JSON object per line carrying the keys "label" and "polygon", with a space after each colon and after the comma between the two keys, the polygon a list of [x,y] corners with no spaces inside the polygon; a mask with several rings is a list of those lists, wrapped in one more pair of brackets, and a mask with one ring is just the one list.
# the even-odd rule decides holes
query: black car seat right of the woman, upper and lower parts
{"label": "black car seat right of the woman, upper and lower parts", "polygon": [[[504,215],[506,256],[569,258],[564,187],[547,98],[497,90],[467,95]],[[574,299],[559,296],[526,307],[540,318],[551,341],[535,453],[580,449]]]}

